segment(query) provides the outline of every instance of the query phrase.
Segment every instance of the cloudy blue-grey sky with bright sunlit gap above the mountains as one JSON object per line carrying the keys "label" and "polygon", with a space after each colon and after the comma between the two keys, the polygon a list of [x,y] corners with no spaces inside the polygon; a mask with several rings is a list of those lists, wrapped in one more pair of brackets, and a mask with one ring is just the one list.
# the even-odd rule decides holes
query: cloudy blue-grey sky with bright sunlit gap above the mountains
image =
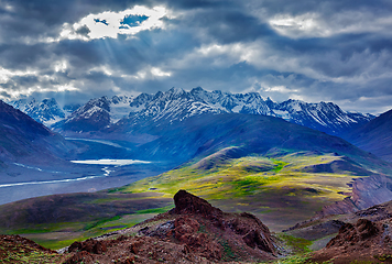
{"label": "cloudy blue-grey sky with bright sunlit gap above the mountains", "polygon": [[392,108],[390,0],[0,0],[0,99],[172,87]]}

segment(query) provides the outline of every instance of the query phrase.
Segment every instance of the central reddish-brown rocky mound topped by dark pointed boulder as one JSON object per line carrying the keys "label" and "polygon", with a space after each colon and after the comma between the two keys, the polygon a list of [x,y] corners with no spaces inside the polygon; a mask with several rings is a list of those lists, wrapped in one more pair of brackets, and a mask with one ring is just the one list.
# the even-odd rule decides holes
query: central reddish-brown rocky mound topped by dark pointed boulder
{"label": "central reddish-brown rocky mound topped by dark pointed boulder", "polygon": [[253,215],[226,213],[185,190],[175,208],[133,228],[73,243],[72,263],[221,263],[276,258],[269,229]]}

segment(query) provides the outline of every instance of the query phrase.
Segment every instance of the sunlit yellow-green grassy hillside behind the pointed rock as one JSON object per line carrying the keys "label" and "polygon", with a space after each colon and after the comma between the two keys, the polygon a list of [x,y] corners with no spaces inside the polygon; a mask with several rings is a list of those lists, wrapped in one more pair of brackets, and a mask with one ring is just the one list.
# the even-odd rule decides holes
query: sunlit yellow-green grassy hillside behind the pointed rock
{"label": "sunlit yellow-green grassy hillside behind the pointed rock", "polygon": [[334,168],[335,162],[344,162],[335,154],[250,155],[216,163],[211,160],[217,158],[211,155],[116,191],[160,193],[168,198],[178,189],[186,189],[224,211],[252,212],[270,229],[280,231],[313,217],[323,206],[344,199],[350,191],[347,184],[358,177]]}

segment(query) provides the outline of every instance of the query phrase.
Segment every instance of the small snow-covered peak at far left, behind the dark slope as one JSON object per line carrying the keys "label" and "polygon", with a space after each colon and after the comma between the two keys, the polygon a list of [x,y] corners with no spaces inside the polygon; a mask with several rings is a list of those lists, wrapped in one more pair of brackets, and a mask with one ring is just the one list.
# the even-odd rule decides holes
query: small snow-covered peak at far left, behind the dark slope
{"label": "small snow-covered peak at far left, behind the dark slope", "polygon": [[11,101],[9,105],[46,127],[51,127],[52,124],[64,120],[70,112],[80,107],[78,105],[70,105],[62,109],[54,98],[44,99],[42,101],[36,101],[34,98],[31,100],[20,99]]}

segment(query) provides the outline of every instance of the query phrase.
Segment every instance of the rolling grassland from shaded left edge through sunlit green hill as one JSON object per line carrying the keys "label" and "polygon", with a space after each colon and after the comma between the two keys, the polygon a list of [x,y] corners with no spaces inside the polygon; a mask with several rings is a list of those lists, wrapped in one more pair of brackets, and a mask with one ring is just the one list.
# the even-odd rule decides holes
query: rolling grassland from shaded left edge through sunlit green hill
{"label": "rolling grassland from shaded left edge through sunlit green hill", "polygon": [[[2,221],[9,222],[12,218],[19,223],[6,228],[9,233],[23,234],[40,244],[58,249],[69,241],[131,227],[138,220],[164,212],[173,206],[171,197],[178,189],[187,189],[225,211],[251,212],[272,231],[280,232],[350,196],[352,182],[370,174],[367,168],[335,153],[274,148],[265,155],[241,155],[240,147],[227,147],[123,187],[4,205],[0,211],[8,213],[2,213]],[[75,204],[76,200],[81,204]],[[139,209],[134,209],[135,205]],[[42,207],[55,212],[56,217],[45,213],[43,219],[31,211]],[[21,208],[29,208],[30,218],[12,213],[25,210]],[[72,212],[74,210],[87,210],[89,218],[83,220]],[[40,226],[40,222],[46,224]],[[28,231],[24,227],[29,226]]]}

